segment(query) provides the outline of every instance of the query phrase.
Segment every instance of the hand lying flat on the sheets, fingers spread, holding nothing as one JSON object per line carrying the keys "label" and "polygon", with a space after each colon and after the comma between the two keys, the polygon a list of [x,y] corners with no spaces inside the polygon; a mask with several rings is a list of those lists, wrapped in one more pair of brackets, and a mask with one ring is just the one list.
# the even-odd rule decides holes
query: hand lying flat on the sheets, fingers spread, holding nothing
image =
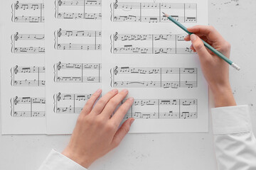
{"label": "hand lying flat on the sheets, fingers spread, holding nothing", "polygon": [[[129,118],[119,128],[134,98],[128,98],[114,113],[119,103],[127,96],[127,90],[118,93],[117,89],[113,89],[97,101],[101,93],[101,90],[96,91],[85,104],[68,147],[63,151],[63,155],[85,168],[117,147],[134,122],[134,118]],[[92,108],[94,104],[95,107]],[[112,113],[114,115],[111,117]]]}

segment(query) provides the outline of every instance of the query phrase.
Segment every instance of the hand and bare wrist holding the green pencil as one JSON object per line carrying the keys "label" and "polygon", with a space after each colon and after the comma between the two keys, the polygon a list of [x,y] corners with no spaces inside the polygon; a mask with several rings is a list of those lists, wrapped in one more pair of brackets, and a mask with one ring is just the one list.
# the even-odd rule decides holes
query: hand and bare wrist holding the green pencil
{"label": "hand and bare wrist holding the green pencil", "polygon": [[228,63],[208,50],[202,40],[228,58],[230,57],[230,43],[212,26],[193,26],[188,28],[188,31],[194,34],[186,36],[185,40],[191,40],[191,50],[198,53],[204,77],[215,96],[215,106],[235,106],[235,99],[230,88]]}

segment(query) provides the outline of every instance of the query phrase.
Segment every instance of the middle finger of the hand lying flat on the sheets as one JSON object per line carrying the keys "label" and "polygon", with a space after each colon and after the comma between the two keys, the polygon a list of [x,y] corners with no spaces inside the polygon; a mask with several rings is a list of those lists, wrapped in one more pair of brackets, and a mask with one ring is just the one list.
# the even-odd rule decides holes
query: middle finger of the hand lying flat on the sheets
{"label": "middle finger of the hand lying flat on the sheets", "polygon": [[112,113],[114,113],[114,110],[117,108],[119,103],[121,103],[121,101],[124,100],[127,94],[128,94],[127,89],[124,89],[121,92],[119,92],[119,94],[114,96],[110,100],[110,102],[107,103],[107,106],[102,111],[102,115],[105,116],[105,118],[110,119],[110,116],[112,115]]}

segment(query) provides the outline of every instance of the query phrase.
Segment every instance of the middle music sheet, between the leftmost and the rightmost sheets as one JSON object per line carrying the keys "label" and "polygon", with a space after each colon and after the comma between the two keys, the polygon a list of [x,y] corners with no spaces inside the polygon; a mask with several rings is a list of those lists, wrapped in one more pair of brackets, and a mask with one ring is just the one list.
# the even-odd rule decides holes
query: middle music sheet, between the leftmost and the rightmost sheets
{"label": "middle music sheet, between the leftmost and the rightmost sheets", "polygon": [[101,1],[45,2],[47,133],[70,134],[101,88]]}

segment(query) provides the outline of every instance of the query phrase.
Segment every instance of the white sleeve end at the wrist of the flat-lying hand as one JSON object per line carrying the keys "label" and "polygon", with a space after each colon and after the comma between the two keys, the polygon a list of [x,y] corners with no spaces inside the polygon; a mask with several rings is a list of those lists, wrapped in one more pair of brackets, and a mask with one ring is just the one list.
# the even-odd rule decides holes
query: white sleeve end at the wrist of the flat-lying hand
{"label": "white sleeve end at the wrist of the flat-lying hand", "polygon": [[87,170],[80,164],[52,150],[38,170]]}

